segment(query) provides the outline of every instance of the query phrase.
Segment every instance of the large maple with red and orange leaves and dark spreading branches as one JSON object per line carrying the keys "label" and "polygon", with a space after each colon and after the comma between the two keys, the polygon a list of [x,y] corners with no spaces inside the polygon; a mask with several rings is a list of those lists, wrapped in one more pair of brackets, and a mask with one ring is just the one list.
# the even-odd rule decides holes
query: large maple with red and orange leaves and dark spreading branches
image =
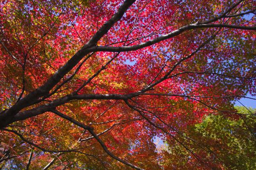
{"label": "large maple with red and orange leaves and dark spreading branches", "polygon": [[2,1],[2,167],[161,169],[162,136],[214,168],[180,138],[205,115],[244,116],[233,102],[256,93],[255,5]]}

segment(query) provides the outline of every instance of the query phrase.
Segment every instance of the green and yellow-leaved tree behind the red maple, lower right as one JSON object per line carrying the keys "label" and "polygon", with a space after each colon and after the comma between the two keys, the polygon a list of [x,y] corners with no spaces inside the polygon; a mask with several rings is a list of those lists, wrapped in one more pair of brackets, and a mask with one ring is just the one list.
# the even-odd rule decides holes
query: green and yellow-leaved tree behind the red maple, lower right
{"label": "green and yellow-leaved tree behind the red maple, lower right", "polygon": [[[193,152],[201,157],[201,160],[208,161],[207,164],[215,169],[255,170],[256,121],[253,114],[256,110],[247,110],[244,107],[236,107],[236,109],[238,113],[245,115],[239,119],[230,119],[224,115],[209,115],[201,123],[189,126],[184,133],[187,138],[180,140],[189,148],[193,148]],[[253,133],[250,133],[248,127],[254,127],[250,129]],[[197,139],[197,142],[188,138]],[[161,157],[161,163],[166,169],[201,168],[195,158],[191,157],[183,147],[169,140],[166,144],[162,151],[168,154],[163,154]],[[209,153],[209,149],[214,150],[214,153]]]}

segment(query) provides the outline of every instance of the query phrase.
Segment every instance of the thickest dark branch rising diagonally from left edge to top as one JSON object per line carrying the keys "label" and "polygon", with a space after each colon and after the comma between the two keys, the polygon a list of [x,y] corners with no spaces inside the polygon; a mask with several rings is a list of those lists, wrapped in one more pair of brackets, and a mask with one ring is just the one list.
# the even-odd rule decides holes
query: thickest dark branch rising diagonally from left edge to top
{"label": "thickest dark branch rising diagonally from left edge to top", "polygon": [[135,0],[125,0],[125,2],[120,6],[116,14],[111,17],[96,34],[79,50],[76,54],[71,57],[66,64],[64,64],[55,74],[50,77],[47,82],[41,87],[37,88],[35,91],[31,92],[23,99],[20,99],[15,105],[6,110],[0,115],[0,123],[6,126],[12,119],[12,116],[18,113],[22,108],[31,105],[35,99],[41,96],[47,95],[49,91],[73,68],[79,63],[79,61],[87,55],[89,52],[86,50],[89,47],[94,46],[108,31],[109,29],[122,18],[123,14],[127,9],[135,2]]}

